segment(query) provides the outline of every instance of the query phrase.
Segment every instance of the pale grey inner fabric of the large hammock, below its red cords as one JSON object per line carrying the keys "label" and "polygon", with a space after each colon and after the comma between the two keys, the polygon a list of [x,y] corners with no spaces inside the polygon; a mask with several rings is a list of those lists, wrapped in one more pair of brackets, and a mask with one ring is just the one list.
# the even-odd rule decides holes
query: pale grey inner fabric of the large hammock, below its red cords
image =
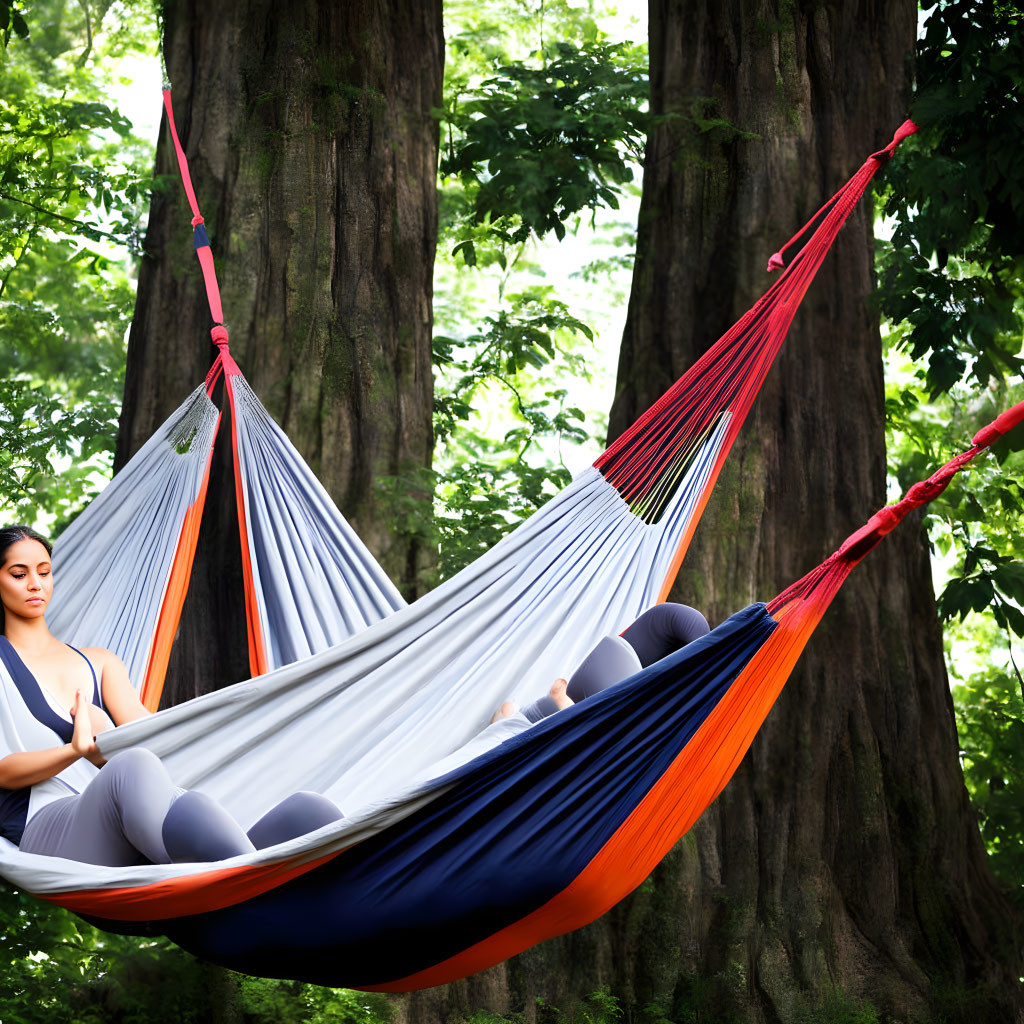
{"label": "pale grey inner fabric of the large hammock, below its red cords", "polygon": [[[599,471],[587,469],[414,604],[317,654],[103,733],[103,754],[148,748],[178,784],[217,798],[245,826],[297,790],[323,793],[345,811],[343,822],[240,862],[285,860],[297,851],[322,856],[386,827],[436,795],[429,780],[455,767],[450,756],[485,729],[499,703],[541,695],[600,637],[621,632],[654,602],[727,421],[692,461],[658,522],[638,519]],[[176,436],[173,425],[169,435]],[[136,460],[165,457],[156,445]],[[141,464],[136,470],[144,471]],[[120,474],[104,495],[123,504],[121,481],[135,475]],[[103,548],[122,543],[118,528],[112,523],[108,532],[96,522],[92,540]],[[56,570],[54,579],[57,593],[63,581]],[[158,596],[151,592],[150,601]],[[116,603],[101,603],[112,616],[121,614]],[[121,653],[116,643],[113,649]],[[507,729],[470,743],[464,759]],[[31,857],[0,843],[0,871],[37,894],[144,886],[207,870],[100,868]]]}

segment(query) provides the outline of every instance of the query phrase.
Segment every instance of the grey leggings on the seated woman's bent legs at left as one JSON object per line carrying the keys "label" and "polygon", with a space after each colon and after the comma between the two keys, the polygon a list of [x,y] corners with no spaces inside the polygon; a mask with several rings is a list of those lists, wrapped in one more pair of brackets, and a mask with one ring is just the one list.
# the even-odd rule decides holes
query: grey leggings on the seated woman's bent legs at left
{"label": "grey leggings on the seated woman's bent legs at left", "polygon": [[294,793],[246,834],[215,800],[178,788],[155,754],[134,748],[111,758],[78,796],[55,800],[35,814],[20,849],[112,867],[224,860],[340,817],[326,797]]}

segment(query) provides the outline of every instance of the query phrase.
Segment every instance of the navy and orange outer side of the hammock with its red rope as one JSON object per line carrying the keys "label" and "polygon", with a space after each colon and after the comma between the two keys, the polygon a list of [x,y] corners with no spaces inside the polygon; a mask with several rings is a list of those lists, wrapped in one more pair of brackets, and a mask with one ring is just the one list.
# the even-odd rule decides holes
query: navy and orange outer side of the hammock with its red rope
{"label": "navy and orange outer side of the hammock with its red rope", "polygon": [[[269,851],[263,864],[178,865],[190,873],[177,877],[76,865],[94,886],[101,873],[129,884],[47,898],[119,922],[163,921],[185,948],[238,970],[387,991],[464,977],[593,921],[721,793],[836,581],[1022,419],[1024,403],[1002,414],[770,604],[452,772]],[[153,724],[111,738],[132,745],[129,728]],[[164,877],[146,882],[143,871]]]}

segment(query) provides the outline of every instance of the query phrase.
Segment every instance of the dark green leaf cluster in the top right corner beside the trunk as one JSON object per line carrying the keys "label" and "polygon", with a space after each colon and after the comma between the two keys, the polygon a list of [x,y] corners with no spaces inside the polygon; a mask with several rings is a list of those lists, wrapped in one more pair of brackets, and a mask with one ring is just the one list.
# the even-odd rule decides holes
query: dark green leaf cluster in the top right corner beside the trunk
{"label": "dark green leaf cluster in the top right corner beside the trunk", "polygon": [[932,397],[965,373],[1021,371],[1024,328],[1024,32],[1017,4],[926,3],[911,115],[920,132],[887,174],[892,242],[879,257],[882,310]]}

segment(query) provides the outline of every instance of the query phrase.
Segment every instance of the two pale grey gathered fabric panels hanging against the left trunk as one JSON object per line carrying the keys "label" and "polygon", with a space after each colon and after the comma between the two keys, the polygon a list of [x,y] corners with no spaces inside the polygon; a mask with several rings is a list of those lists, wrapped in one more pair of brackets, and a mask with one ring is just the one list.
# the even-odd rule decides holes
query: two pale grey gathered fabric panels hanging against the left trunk
{"label": "two pale grey gathered fabric panels hanging against the left trunk", "polygon": [[[230,375],[227,384],[261,668],[279,668],[341,643],[406,602],[245,378]],[[198,387],[54,545],[60,585],[50,629],[76,646],[115,651],[136,688],[148,674],[219,416]],[[175,625],[176,617],[172,632]]]}

